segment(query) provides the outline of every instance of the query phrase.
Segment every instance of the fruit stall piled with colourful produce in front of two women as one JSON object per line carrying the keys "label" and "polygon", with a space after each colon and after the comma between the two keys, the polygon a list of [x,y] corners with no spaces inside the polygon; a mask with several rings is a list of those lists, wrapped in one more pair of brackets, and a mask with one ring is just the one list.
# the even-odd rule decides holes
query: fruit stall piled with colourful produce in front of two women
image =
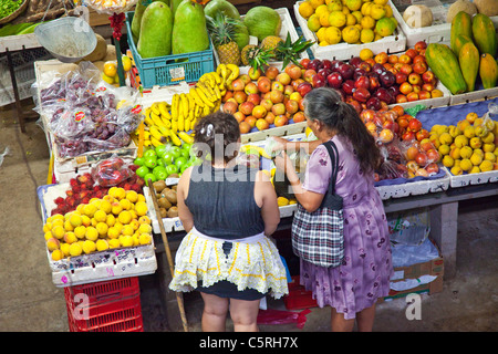
{"label": "fruit stall piled with colourful produce in front of two women", "polygon": [[[92,325],[69,316],[72,331],[108,327],[97,309],[126,306],[133,316],[120,330],[142,330],[136,279],[170,279],[185,236],[176,186],[201,163],[193,128],[218,110],[239,123],[239,163],[270,176],[284,235],[276,242],[289,242],[297,200],[279,185],[270,142],[313,139],[303,98],[315,87],[336,90],[374,136],[384,157],[375,188],[393,239],[429,239],[436,250],[427,262],[437,267],[406,271],[392,296],[405,293],[402,280],[432,277],[412,290],[434,293],[455,275],[458,202],[498,195],[496,0],[262,2],[246,13],[227,0],[82,3],[112,15],[114,44],[85,32],[95,35],[90,51],[37,61],[31,87],[52,156],[38,192],[53,283],[72,315],[74,293],[118,282],[120,304],[93,303]],[[423,231],[403,222],[414,219]],[[286,304],[301,301],[289,296]]]}

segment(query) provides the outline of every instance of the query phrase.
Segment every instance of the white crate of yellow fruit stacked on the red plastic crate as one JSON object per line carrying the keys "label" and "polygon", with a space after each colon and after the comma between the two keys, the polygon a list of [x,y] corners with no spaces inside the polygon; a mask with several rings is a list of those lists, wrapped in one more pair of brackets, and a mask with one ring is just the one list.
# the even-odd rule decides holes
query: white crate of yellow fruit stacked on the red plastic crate
{"label": "white crate of yellow fruit stacked on the red plastic crate", "polygon": [[[64,196],[69,184],[40,186],[37,189],[43,222],[48,219],[48,210],[55,207],[54,199]],[[127,277],[153,274],[157,269],[154,250],[151,244],[116,248],[77,257],[53,261],[49,250],[46,257],[52,271],[52,281],[58,288],[66,288],[100,281],[108,281]]]}

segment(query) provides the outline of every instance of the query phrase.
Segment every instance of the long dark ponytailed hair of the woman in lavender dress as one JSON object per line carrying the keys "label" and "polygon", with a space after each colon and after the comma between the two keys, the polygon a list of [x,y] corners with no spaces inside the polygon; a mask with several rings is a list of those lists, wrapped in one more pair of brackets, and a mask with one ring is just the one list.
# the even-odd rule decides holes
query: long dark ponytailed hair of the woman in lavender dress
{"label": "long dark ponytailed hair of the woman in lavender dress", "polygon": [[364,171],[374,171],[382,163],[382,156],[374,137],[369,133],[356,110],[341,101],[333,88],[319,87],[304,97],[304,114],[310,119],[323,122],[326,127],[346,137],[353,145]]}

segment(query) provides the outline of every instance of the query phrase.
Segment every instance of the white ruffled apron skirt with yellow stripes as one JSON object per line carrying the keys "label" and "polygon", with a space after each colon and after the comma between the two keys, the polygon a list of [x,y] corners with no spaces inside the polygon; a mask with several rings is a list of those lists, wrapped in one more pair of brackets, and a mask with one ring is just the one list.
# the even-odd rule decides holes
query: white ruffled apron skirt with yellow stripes
{"label": "white ruffled apron skirt with yellow stripes", "polygon": [[[228,254],[222,244],[232,243]],[[207,237],[195,228],[183,239],[175,256],[175,273],[169,289],[188,292],[226,280],[239,291],[255,289],[279,299],[289,292],[286,268],[273,242],[264,235],[240,240]]]}

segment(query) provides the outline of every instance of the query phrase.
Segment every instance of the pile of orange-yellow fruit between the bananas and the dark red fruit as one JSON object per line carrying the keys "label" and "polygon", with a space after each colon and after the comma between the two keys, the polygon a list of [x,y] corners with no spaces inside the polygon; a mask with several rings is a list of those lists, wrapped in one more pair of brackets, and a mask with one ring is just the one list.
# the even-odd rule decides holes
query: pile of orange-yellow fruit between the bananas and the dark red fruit
{"label": "pile of orange-yellow fruit between the bananas and the dark red fruit", "polygon": [[227,86],[222,110],[234,114],[242,134],[304,122],[302,101],[312,86],[302,75],[293,63],[282,72],[274,66],[250,67]]}

